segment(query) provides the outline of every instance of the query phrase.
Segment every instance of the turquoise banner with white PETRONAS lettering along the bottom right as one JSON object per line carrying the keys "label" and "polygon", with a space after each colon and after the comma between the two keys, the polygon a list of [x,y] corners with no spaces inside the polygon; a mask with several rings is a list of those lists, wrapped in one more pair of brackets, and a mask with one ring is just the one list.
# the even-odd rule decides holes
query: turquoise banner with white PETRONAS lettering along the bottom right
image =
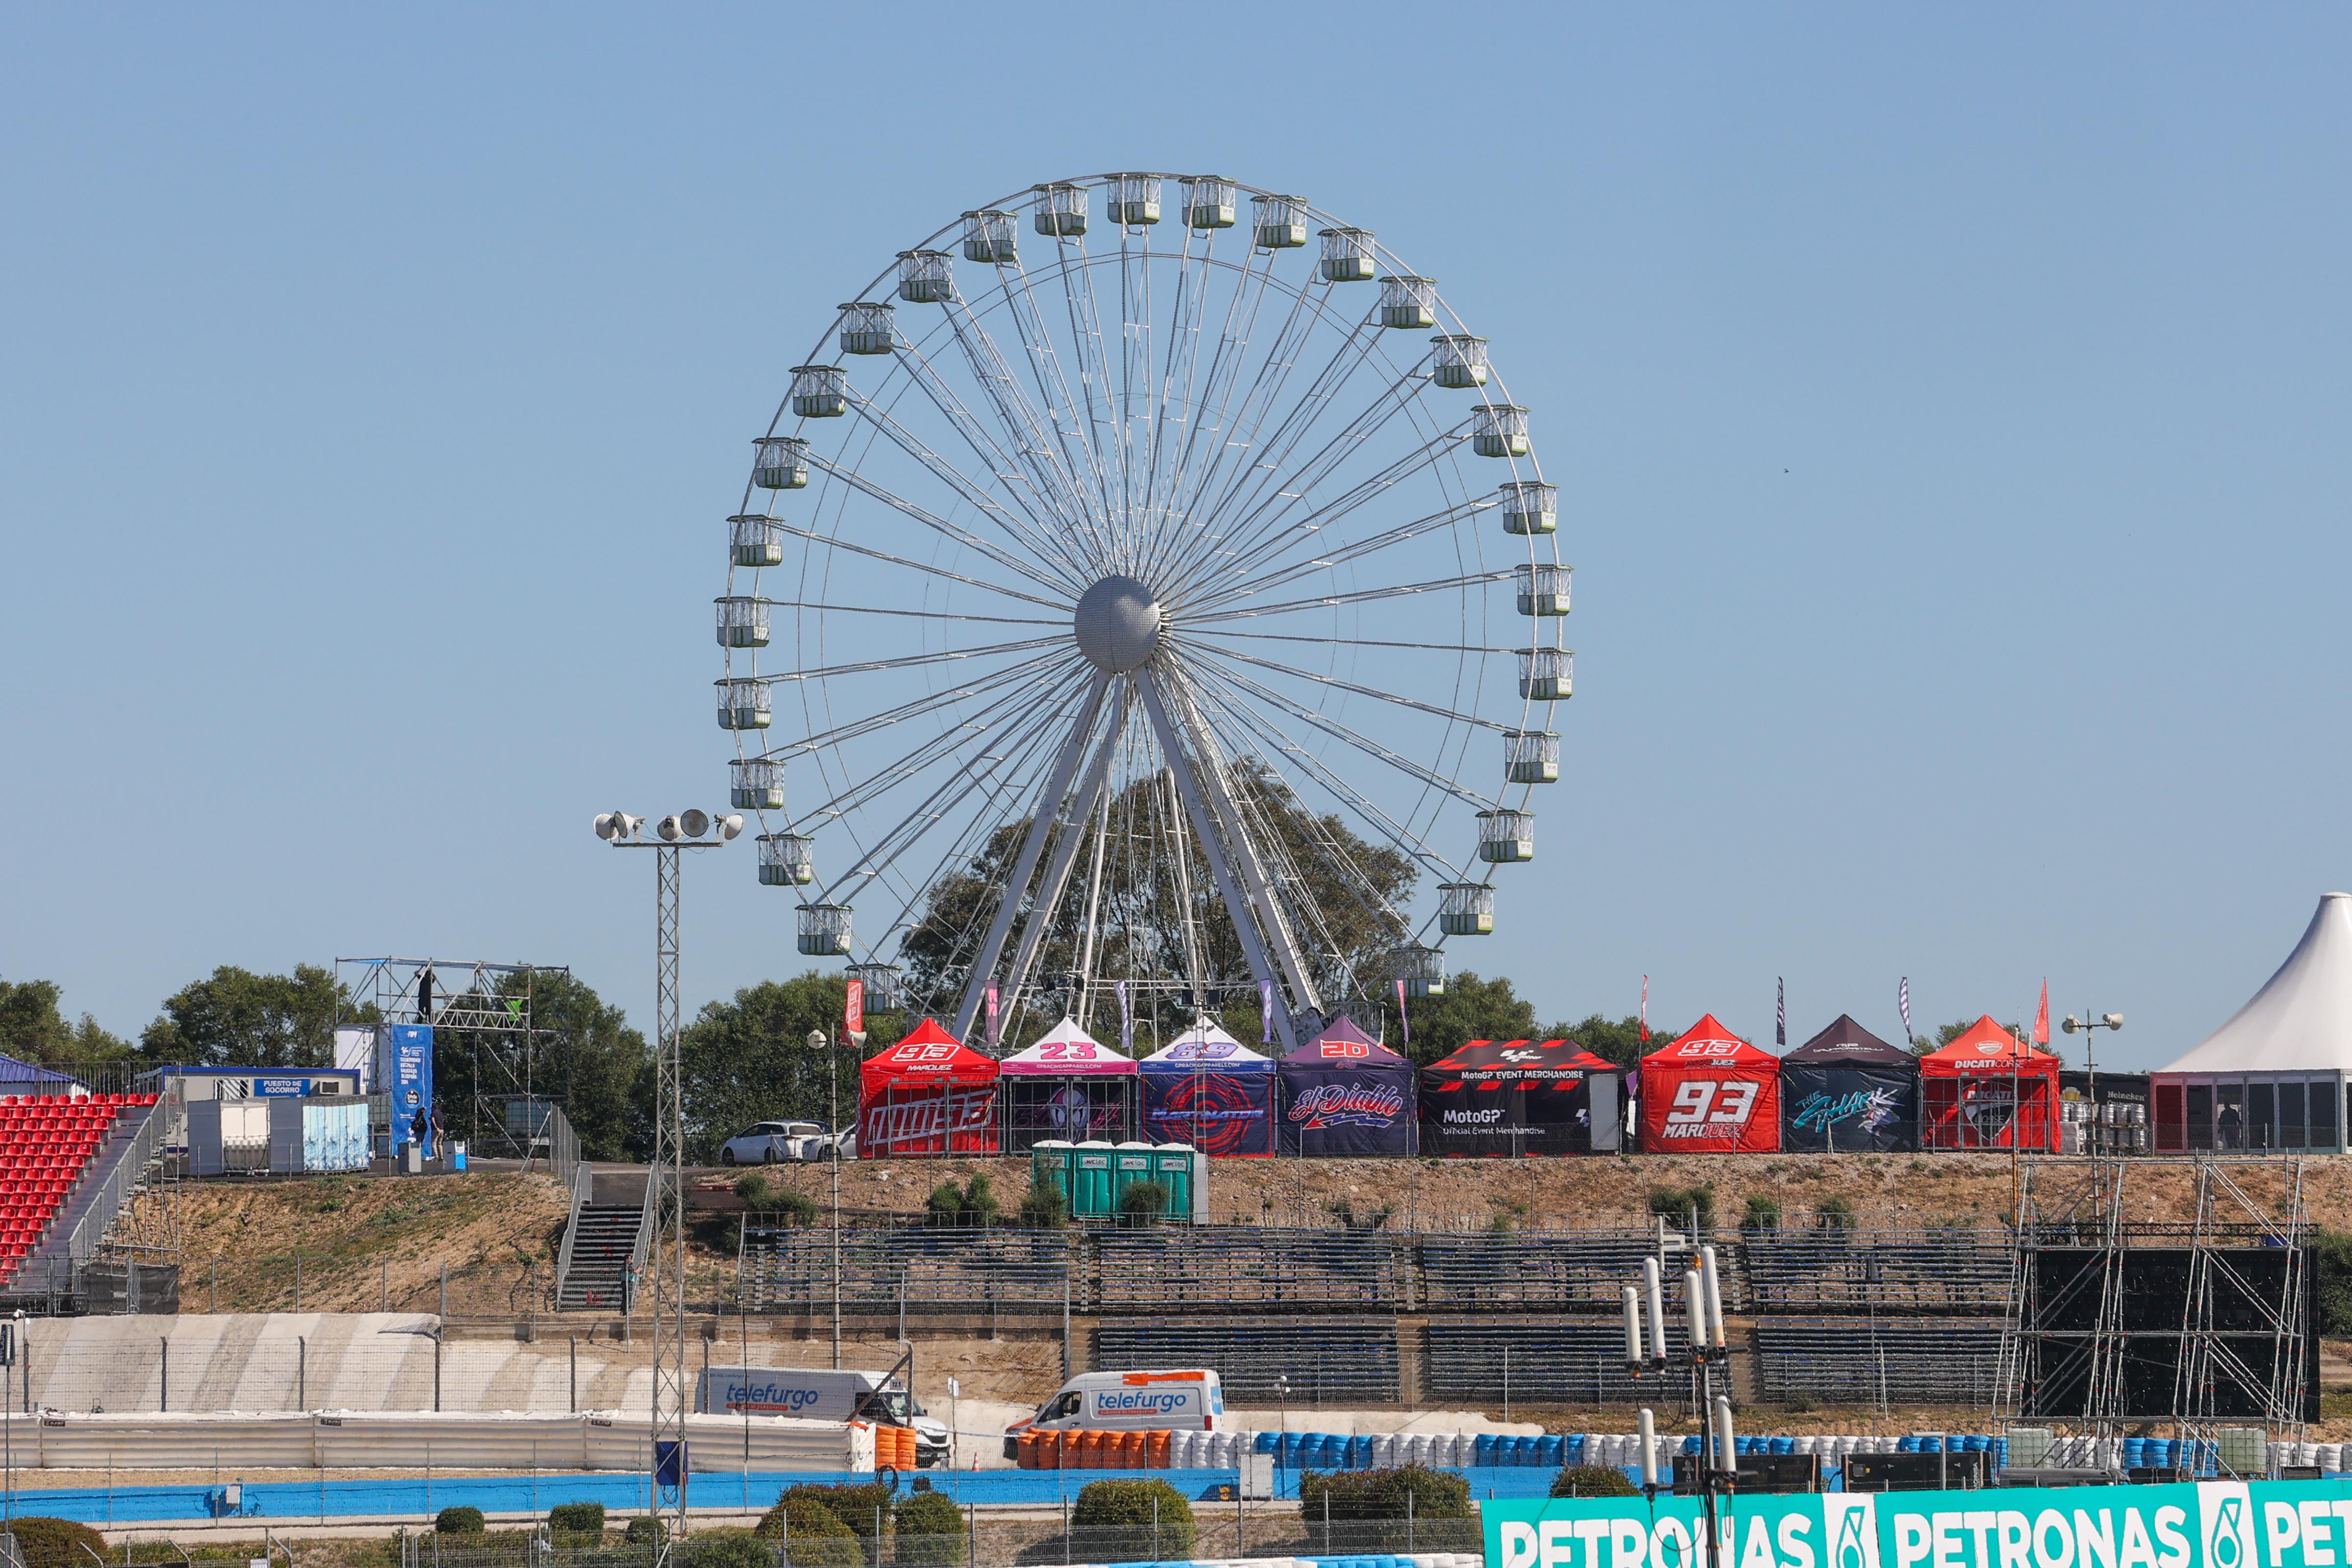
{"label": "turquoise banner with white PETRONAS lettering along the bottom right", "polygon": [[2347,1568],[2352,1481],[1482,1502],[1486,1568]]}

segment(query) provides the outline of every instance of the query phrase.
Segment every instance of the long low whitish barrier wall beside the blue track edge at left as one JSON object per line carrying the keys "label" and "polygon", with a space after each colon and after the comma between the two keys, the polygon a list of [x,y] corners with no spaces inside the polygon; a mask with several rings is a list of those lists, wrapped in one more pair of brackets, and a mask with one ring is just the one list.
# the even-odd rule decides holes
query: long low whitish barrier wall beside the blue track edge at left
{"label": "long low whitish barrier wall beside the blue track edge at left", "polygon": [[[322,1410],[318,1415],[16,1418],[14,1455],[31,1469],[649,1469],[642,1415]],[[689,1415],[696,1472],[861,1472],[875,1434],[861,1422],[790,1415]]]}

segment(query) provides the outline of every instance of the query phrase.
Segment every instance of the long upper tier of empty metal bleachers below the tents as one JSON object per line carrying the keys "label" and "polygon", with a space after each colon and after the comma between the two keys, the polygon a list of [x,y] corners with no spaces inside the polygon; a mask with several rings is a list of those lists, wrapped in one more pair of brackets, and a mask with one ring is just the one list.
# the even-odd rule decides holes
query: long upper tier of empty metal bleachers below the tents
{"label": "long upper tier of empty metal bleachers below the tents", "polygon": [[[1724,1307],[1809,1314],[1985,1314],[2013,1248],[1983,1232],[1729,1232]],[[1613,1312],[1658,1258],[1653,1232],[1388,1232],[1279,1225],[1157,1229],[788,1227],[753,1215],[739,1291],[755,1312]],[[1682,1253],[1665,1258],[1670,1274]],[[1668,1281],[1675,1288],[1675,1281]]]}

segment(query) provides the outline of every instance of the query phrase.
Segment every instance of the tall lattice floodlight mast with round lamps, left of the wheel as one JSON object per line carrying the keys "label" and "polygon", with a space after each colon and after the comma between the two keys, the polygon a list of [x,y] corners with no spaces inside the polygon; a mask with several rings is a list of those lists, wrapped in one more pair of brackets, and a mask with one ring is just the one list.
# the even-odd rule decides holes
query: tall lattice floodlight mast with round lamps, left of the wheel
{"label": "tall lattice floodlight mast with round lamps, left of the wheel", "polygon": [[[677,811],[654,823],[656,844],[637,837],[642,816],[602,811],[595,837],[614,849],[654,853],[654,1159],[644,1168],[654,1215],[654,1514],[663,1530],[654,1568],[687,1530],[687,1121],[677,1074],[677,853],[717,849],[743,832],[741,816]],[[663,1208],[668,1213],[663,1213]],[[668,1237],[663,1237],[668,1227]],[[663,1324],[663,1314],[675,1321]]]}

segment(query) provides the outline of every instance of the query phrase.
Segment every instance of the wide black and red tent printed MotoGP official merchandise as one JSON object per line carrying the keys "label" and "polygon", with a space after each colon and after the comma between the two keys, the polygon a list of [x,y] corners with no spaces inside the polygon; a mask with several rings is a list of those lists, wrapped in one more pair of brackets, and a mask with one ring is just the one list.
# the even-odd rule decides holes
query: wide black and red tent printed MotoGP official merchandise
{"label": "wide black and red tent printed MotoGP official merchandise", "polygon": [[1618,1147],[1618,1074],[1573,1039],[1472,1039],[1421,1070],[1421,1152],[1590,1154]]}

